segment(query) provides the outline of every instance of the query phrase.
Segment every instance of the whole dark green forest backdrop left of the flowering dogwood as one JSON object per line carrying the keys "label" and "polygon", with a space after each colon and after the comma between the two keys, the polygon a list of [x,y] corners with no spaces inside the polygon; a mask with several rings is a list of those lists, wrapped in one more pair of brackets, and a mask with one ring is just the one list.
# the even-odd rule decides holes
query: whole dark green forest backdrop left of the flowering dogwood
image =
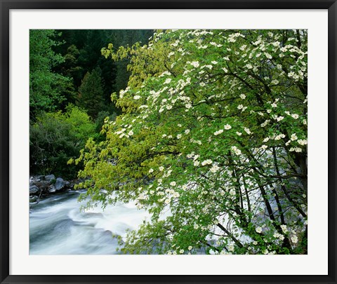
{"label": "whole dark green forest backdrop left of the flowering dogwood", "polygon": [[112,62],[102,56],[101,49],[108,43],[116,48],[147,43],[152,34],[151,30],[122,29],[30,31],[31,174],[77,176],[78,167],[67,161],[79,155],[88,137],[103,140],[100,130],[105,118],[121,114],[111,94],[126,88],[130,76],[127,59]]}

